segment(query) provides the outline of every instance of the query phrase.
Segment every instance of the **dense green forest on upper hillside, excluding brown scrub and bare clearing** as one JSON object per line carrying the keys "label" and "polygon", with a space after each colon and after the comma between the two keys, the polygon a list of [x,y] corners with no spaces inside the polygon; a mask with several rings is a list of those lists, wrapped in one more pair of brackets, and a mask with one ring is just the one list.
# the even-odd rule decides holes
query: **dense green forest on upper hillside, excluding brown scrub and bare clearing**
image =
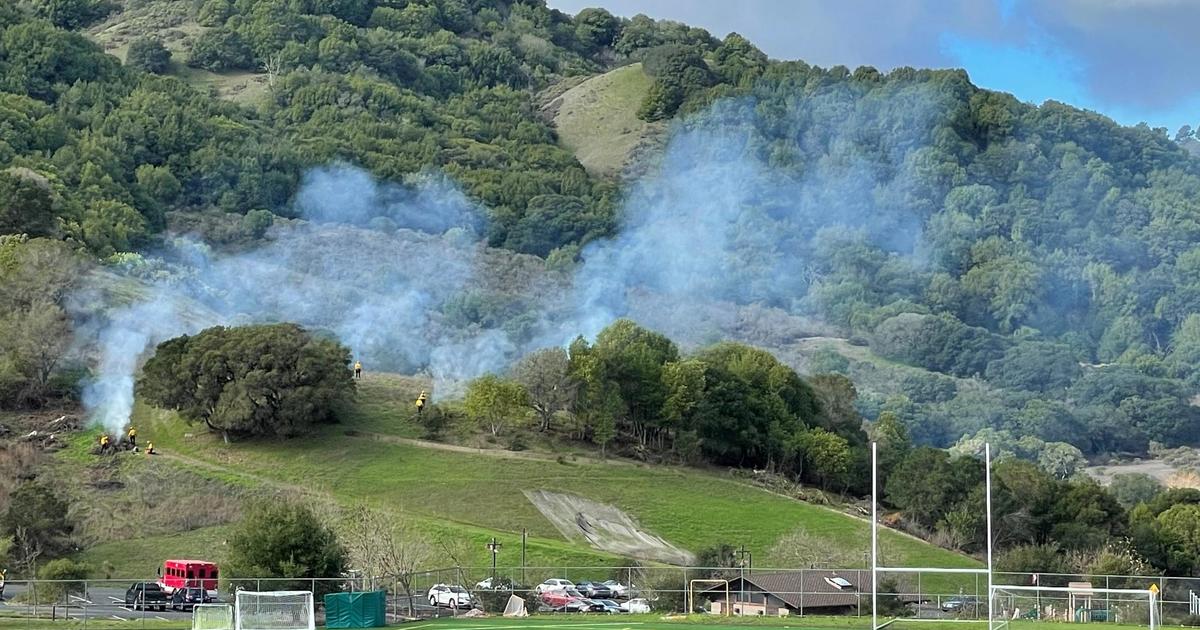
{"label": "dense green forest on upper hillside, excluding brown scrub and bare clearing", "polygon": [[[736,34],[539,2],[205,0],[176,59],[142,36],[125,65],[78,31],[151,5],[2,8],[4,233],[101,258],[168,226],[246,246],[269,212],[295,214],[307,168],[344,161],[394,180],[442,170],[486,209],[491,245],[568,246],[570,262],[629,224],[630,188],[589,176],[534,94],[641,60],[641,118],[736,128],[732,155],[769,172],[736,197],[733,238],[757,258],[732,251],[744,282],[715,298],[820,316],[878,355],[986,384],[864,396],[869,419],[892,410],[932,444],[990,427],[1084,454],[1200,434],[1200,167],[1160,131],[959,71],[778,62]],[[184,65],[260,71],[268,95],[214,98],[170,76]],[[19,354],[16,380],[36,372]]]}

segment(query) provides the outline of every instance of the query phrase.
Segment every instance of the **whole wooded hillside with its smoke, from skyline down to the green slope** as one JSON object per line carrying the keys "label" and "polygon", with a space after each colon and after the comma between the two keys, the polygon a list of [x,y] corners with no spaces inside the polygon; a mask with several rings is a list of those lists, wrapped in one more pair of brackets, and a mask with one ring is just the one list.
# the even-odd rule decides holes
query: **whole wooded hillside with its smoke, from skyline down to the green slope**
{"label": "whole wooded hillside with its smoke, from skyline down to the green slope", "polygon": [[[1195,572],[1200,494],[1074,478],[1200,445],[1196,144],[962,71],[770,60],[737,34],[540,0],[2,2],[0,420],[73,412],[108,378],[112,398],[83,402],[124,396],[124,428],[142,361],[176,337],[140,374],[144,416],[306,433],[275,424],[311,391],[278,413],[247,392],[311,383],[235,380],[311,331],[331,378],[365,359],[432,388],[406,439],[859,496],[874,439],[887,505],[967,552],[979,462],[956,456],[988,440],[1008,460],[1006,566]],[[305,329],[196,335],[280,322]],[[223,336],[238,379],[197,359]],[[306,413],[374,430],[409,410],[407,391],[349,389]],[[35,450],[0,446],[0,498],[37,476]]]}

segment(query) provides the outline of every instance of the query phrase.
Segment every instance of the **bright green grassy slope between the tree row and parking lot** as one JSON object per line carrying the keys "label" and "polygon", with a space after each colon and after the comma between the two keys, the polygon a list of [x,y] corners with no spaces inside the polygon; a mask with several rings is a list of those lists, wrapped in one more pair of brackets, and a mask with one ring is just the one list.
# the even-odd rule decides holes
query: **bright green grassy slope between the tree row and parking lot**
{"label": "bright green grassy slope between the tree row and parking lot", "polygon": [[[564,540],[522,493],[536,488],[614,504],[648,530],[692,551],[719,542],[745,544],[762,550],[756,553],[756,564],[762,566],[772,563],[767,550],[799,527],[844,556],[862,556],[868,548],[865,521],[715,473],[594,460],[560,463],[533,454],[498,456],[511,455],[504,451],[454,452],[377,437],[419,433],[407,407],[415,388],[419,382],[413,379],[365,379],[358,410],[347,422],[352,434],[347,434],[347,426],[330,426],[304,439],[226,445],[161,410],[139,406],[136,421],[164,457],[197,474],[208,468],[227,484],[233,476],[284,491],[308,488],[318,499],[408,515],[433,538],[478,542],[472,547],[480,565],[486,559],[482,541],[497,535],[515,551],[522,528],[530,534],[530,565],[619,564],[618,558]],[[186,433],[194,436],[186,438]],[[883,533],[882,545],[889,560],[900,564],[974,565],[968,558],[893,532]],[[502,553],[499,564],[512,566],[518,559],[517,553]]]}

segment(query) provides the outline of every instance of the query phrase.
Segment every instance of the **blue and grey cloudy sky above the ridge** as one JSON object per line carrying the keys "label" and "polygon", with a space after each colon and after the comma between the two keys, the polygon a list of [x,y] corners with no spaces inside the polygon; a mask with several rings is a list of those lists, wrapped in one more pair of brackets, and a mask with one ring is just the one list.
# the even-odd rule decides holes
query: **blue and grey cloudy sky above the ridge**
{"label": "blue and grey cloudy sky above the ridge", "polygon": [[1200,0],[548,0],[737,31],[820,66],[962,67],[980,86],[1124,125],[1200,126]]}

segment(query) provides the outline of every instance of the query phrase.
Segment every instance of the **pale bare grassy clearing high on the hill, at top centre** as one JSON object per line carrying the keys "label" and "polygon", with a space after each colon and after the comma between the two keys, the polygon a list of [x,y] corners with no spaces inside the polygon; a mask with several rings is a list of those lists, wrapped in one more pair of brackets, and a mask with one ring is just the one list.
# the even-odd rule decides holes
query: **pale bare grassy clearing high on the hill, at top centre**
{"label": "pale bare grassy clearing high on the hill, at top centre", "polygon": [[641,64],[593,77],[552,101],[559,138],[589,173],[619,175],[647,136],[661,128],[637,119],[650,88]]}

